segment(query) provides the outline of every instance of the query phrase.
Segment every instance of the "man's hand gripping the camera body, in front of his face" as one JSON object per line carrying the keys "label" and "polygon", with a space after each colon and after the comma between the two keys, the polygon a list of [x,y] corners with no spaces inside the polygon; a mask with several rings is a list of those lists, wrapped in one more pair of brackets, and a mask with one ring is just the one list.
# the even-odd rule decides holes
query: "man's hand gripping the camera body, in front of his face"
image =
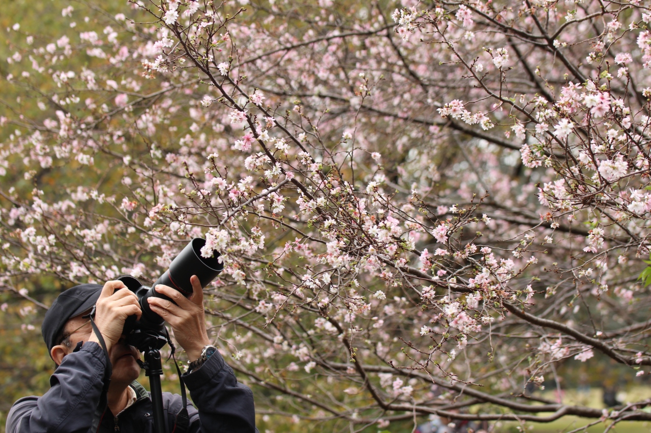
{"label": "man's hand gripping the camera body, in front of his face", "polygon": [[[125,289],[125,290],[118,290]],[[135,293],[126,288],[121,281],[109,281],[102,287],[102,293],[95,304],[95,323],[100,330],[106,350],[111,351],[111,347],[122,337],[124,321],[132,315],[138,319],[143,312],[138,304],[138,298]],[[88,341],[100,343],[94,332],[90,334]]]}

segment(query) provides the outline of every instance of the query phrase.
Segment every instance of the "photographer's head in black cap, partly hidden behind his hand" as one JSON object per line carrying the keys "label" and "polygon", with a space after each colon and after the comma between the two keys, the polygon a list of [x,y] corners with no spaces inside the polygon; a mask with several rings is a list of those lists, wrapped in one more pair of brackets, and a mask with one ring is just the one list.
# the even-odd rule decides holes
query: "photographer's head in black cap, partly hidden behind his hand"
{"label": "photographer's head in black cap, partly hidden behind his hand", "polygon": [[[118,282],[110,283],[117,285],[115,283]],[[101,285],[77,285],[61,293],[49,308],[41,331],[49,354],[57,366],[61,364],[64,356],[74,351],[79,342],[85,343],[93,335],[90,320],[84,316],[90,313],[101,293]],[[109,358],[113,366],[112,380],[127,383],[135,380],[140,373],[136,362],[138,357],[137,350],[125,345],[124,337],[120,337],[109,348]]]}

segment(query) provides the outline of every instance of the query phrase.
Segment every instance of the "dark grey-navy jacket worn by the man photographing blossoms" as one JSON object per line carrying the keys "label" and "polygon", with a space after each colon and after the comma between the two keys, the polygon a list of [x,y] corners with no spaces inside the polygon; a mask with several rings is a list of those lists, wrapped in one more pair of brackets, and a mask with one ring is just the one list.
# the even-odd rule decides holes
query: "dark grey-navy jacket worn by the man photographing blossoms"
{"label": "dark grey-navy jacket worn by the man photographing blossoms", "polygon": [[[89,432],[102,392],[106,361],[97,343],[85,343],[67,355],[49,379],[50,389],[42,397],[24,397],[14,403],[7,416],[7,433],[96,433]],[[249,387],[238,383],[233,370],[215,352],[202,367],[183,376],[190,397],[189,433],[254,433],[255,408]],[[152,433],[152,401],[140,384],[131,385],[137,400],[114,417],[106,408],[98,432]],[[168,431],[174,431],[176,414],[182,408],[180,395],[163,393]]]}

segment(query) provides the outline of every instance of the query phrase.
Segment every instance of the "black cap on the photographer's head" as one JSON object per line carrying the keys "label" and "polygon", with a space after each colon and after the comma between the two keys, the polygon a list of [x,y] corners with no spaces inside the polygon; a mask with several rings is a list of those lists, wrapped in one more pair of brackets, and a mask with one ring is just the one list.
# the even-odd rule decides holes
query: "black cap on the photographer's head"
{"label": "black cap on the photographer's head", "polygon": [[57,297],[45,313],[41,334],[48,346],[48,351],[55,347],[59,334],[64,330],[66,322],[92,308],[102,293],[99,284],[80,284],[64,291]]}

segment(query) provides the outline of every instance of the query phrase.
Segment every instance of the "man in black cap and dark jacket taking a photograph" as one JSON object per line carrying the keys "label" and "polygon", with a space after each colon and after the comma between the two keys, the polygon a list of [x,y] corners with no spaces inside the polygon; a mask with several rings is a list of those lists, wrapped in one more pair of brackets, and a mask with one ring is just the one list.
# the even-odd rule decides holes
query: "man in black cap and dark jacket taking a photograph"
{"label": "man in black cap and dark jacket taking a photograph", "polygon": [[[170,433],[257,432],[251,389],[237,382],[232,369],[210,346],[204,320],[203,291],[197,276],[190,279],[188,299],[166,285],[156,291],[174,300],[150,297],[154,313],[167,321],[178,344],[186,350],[190,371],[183,375],[191,399],[189,426],[177,419],[182,409],[179,395],[163,393],[165,419]],[[104,338],[112,366],[111,381],[102,399],[107,356],[87,318],[95,306],[94,321]],[[135,382],[139,353],[124,343],[122,328],[131,315],[142,314],[138,298],[120,281],[104,287],[82,284],[61,293],[46,313],[42,334],[57,364],[50,389],[42,397],[25,397],[12,406],[7,433],[153,432],[152,402]],[[99,407],[105,401],[105,407]]]}

